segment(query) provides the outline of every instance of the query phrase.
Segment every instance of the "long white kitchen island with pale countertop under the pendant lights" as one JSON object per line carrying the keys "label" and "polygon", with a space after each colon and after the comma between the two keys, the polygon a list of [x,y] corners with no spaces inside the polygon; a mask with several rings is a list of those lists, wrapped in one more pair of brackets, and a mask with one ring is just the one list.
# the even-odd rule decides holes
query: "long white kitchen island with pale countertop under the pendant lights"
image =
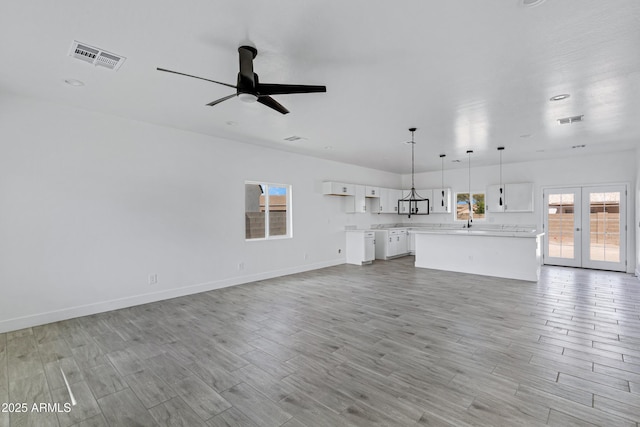
{"label": "long white kitchen island with pale countertop under the pendant lights", "polygon": [[412,230],[415,266],[537,281],[541,240],[535,230]]}

